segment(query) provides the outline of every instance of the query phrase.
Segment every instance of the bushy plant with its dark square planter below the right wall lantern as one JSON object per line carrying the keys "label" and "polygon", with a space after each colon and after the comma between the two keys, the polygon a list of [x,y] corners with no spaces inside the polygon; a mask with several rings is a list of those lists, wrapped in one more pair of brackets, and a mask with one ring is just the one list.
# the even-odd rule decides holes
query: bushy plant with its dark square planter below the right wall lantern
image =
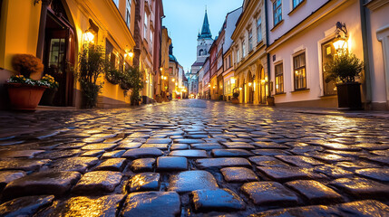
{"label": "bushy plant with its dark square planter below the right wall lantern", "polygon": [[339,109],[362,109],[361,84],[355,81],[364,69],[364,62],[353,53],[342,53],[326,64],[326,82],[336,81]]}

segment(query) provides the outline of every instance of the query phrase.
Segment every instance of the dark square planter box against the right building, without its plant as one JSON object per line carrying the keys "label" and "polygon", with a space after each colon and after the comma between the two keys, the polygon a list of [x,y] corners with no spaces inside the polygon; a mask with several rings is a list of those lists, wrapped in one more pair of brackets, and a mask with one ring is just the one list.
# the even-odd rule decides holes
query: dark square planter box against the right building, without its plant
{"label": "dark square planter box against the right building, without its plant", "polygon": [[337,107],[343,110],[361,110],[361,84],[357,82],[336,84]]}

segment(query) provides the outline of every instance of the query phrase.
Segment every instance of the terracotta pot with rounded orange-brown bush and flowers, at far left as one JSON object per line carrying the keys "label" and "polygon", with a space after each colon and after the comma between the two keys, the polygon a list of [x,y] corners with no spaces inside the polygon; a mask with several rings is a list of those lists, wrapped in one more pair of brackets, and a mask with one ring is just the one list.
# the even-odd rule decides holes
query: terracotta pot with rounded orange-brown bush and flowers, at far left
{"label": "terracotta pot with rounded orange-brown bush and flowers, at far left", "polygon": [[[5,87],[12,109],[35,110],[44,90],[50,87],[45,80],[39,80],[44,64],[31,54],[15,54],[12,66],[18,74],[6,80]],[[36,80],[32,79],[34,77]]]}

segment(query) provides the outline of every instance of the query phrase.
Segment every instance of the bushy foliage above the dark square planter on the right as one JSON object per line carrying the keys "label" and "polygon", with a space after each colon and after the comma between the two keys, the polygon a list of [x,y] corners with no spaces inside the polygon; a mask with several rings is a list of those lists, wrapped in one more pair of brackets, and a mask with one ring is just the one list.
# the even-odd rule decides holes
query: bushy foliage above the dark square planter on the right
{"label": "bushy foliage above the dark square planter on the right", "polygon": [[344,53],[336,55],[334,61],[325,65],[326,67],[326,82],[335,80],[336,82],[355,82],[355,78],[360,76],[364,69],[364,62],[356,58],[353,53]]}

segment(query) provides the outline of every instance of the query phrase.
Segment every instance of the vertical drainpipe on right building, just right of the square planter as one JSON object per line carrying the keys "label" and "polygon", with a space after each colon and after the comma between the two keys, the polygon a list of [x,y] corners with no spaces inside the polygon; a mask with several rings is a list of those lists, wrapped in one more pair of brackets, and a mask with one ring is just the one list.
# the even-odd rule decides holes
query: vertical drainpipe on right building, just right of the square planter
{"label": "vertical drainpipe on right building, just right of the square planter", "polygon": [[369,47],[367,41],[367,18],[365,11],[365,1],[359,0],[359,9],[361,12],[361,29],[362,29],[362,43],[364,49],[364,62],[365,62],[365,109],[372,109],[372,81],[370,79],[370,59],[369,59]]}

